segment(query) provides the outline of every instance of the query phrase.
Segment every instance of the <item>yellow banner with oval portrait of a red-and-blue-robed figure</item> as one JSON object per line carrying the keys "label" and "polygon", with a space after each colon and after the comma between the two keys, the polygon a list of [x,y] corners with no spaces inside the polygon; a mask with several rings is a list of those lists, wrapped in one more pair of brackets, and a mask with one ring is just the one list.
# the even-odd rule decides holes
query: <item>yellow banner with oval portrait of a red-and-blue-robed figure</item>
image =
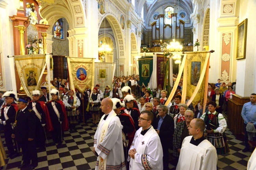
{"label": "yellow banner with oval portrait of a red-and-blue-robed figure", "polygon": [[87,87],[94,87],[94,58],[67,57],[70,89],[84,92]]}

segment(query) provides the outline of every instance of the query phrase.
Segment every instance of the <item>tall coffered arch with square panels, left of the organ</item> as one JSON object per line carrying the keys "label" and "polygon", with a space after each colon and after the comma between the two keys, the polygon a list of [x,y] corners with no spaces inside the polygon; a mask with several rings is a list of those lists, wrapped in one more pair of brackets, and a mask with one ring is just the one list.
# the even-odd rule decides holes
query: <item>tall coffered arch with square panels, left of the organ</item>
{"label": "tall coffered arch with square panels, left of the organ", "polygon": [[116,42],[115,44],[117,46],[117,56],[119,56],[119,58],[125,58],[124,35],[122,33],[121,25],[119,24],[117,18],[113,14],[106,14],[100,20],[98,31],[104,18],[108,20],[113,30]]}

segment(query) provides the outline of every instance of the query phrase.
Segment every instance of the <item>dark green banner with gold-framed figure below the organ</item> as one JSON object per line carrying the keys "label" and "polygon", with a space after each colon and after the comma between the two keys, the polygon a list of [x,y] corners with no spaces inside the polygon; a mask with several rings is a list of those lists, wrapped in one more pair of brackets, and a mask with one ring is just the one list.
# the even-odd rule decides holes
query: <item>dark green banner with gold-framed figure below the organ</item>
{"label": "dark green banner with gold-framed figure below the organ", "polygon": [[153,71],[153,56],[139,58],[139,85],[148,86]]}

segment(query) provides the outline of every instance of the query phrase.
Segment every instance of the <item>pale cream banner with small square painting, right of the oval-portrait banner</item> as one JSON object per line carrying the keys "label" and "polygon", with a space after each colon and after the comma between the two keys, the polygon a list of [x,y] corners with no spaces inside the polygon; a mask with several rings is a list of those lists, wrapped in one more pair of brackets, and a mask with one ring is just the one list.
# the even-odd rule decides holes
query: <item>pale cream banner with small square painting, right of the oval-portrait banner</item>
{"label": "pale cream banner with small square painting, right of the oval-portrait banner", "polygon": [[95,63],[95,80],[94,84],[100,85],[100,90],[104,92],[106,85],[113,89],[113,78],[115,73],[116,63]]}

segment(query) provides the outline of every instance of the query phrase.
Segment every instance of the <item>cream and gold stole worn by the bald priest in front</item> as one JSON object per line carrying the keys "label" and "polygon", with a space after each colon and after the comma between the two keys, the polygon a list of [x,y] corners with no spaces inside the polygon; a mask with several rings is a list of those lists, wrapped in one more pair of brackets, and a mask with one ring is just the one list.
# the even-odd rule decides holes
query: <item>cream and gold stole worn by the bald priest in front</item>
{"label": "cream and gold stole worn by the bald priest in front", "polygon": [[[101,126],[101,123],[102,123],[102,121],[103,121],[103,119],[105,117],[105,114],[104,114],[104,116],[102,116],[102,118],[100,119],[100,123],[98,124],[98,127],[101,127],[101,131],[100,131],[100,133],[98,133],[98,136],[97,136],[97,145],[99,145],[103,141],[105,135],[107,134],[107,132],[108,132],[108,125],[109,125],[110,121],[115,116],[117,116],[117,114],[115,114],[115,112],[113,110],[109,114],[110,115],[108,116],[108,118],[106,119],[106,121],[104,122],[104,124],[102,126]],[[100,136],[99,136],[99,134],[100,134]],[[99,156],[99,170],[106,170],[107,159],[108,158],[106,158],[104,160],[102,157]]]}

